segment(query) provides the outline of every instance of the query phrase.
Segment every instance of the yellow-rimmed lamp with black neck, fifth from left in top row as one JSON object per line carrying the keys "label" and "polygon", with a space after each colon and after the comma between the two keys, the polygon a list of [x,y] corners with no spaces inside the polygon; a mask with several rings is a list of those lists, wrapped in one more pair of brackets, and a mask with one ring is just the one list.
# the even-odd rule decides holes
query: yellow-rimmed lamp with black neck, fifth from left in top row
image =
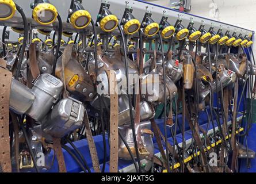
{"label": "yellow-rimmed lamp with black neck, fifth from left in top row", "polygon": [[140,22],[133,16],[131,8],[125,9],[121,25],[125,34],[134,34],[140,29]]}

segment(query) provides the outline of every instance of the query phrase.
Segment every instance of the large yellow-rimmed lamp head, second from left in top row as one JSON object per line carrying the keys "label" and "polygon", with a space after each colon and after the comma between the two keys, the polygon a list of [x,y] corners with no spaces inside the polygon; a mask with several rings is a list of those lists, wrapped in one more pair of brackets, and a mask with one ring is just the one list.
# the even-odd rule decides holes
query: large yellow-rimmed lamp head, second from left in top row
{"label": "large yellow-rimmed lamp head, second from left in top row", "polygon": [[30,7],[33,9],[33,19],[41,25],[49,25],[54,22],[58,16],[58,11],[48,0],[35,0]]}

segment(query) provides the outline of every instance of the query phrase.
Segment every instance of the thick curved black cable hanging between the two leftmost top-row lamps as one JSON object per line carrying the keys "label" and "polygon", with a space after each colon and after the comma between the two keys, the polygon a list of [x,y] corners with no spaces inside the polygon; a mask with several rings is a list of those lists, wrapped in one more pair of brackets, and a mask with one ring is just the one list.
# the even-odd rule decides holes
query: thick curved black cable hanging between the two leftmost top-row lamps
{"label": "thick curved black cable hanging between the two leftmost top-row lamps", "polygon": [[16,5],[18,12],[21,14],[22,21],[24,24],[24,39],[23,39],[23,43],[22,43],[22,47],[21,47],[20,59],[18,60],[18,64],[16,67],[16,74],[15,74],[15,78],[18,79],[18,76],[20,75],[21,64],[22,64],[22,60],[24,57],[24,52],[26,49],[26,41],[28,40],[28,21],[26,20],[26,16],[25,16],[25,13],[22,10],[22,8],[20,6],[18,6],[16,3],[15,3],[15,5]]}

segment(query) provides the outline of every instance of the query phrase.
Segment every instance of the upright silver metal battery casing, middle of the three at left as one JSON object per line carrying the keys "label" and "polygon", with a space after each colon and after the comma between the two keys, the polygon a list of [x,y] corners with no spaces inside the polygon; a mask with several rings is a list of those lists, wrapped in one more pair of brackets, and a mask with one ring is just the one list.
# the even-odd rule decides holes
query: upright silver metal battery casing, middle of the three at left
{"label": "upright silver metal battery casing, middle of the three at left", "polygon": [[51,110],[63,89],[60,79],[50,74],[41,74],[33,82],[32,93],[36,99],[32,107],[26,112],[28,116],[40,121]]}

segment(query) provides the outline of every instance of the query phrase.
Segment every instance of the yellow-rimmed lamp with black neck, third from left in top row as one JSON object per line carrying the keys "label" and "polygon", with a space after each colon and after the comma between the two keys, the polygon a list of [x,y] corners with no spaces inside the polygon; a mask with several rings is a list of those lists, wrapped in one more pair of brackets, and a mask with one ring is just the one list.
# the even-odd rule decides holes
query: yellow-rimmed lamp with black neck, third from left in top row
{"label": "yellow-rimmed lamp with black neck, third from left in top row", "polygon": [[75,29],[84,29],[91,22],[91,15],[81,3],[75,1],[70,13],[70,23]]}

